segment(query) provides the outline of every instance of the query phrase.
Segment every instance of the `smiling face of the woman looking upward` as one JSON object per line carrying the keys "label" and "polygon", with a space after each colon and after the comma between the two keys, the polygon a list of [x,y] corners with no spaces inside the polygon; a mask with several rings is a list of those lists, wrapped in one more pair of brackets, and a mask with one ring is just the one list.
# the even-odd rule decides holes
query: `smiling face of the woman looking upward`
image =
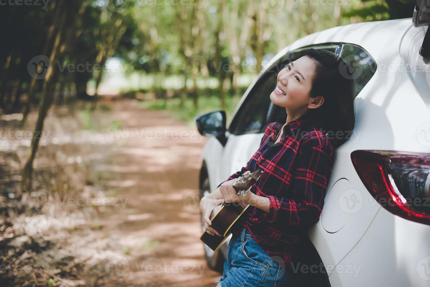
{"label": "smiling face of the woman looking upward", "polygon": [[276,88],[270,94],[273,104],[285,107],[287,113],[304,112],[311,101],[309,92],[314,68],[313,60],[303,56],[280,70]]}

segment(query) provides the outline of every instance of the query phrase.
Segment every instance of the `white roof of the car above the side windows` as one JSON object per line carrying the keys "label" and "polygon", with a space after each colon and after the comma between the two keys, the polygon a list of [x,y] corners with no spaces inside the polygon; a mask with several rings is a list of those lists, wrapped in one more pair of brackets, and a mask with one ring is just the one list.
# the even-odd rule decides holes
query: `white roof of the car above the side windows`
{"label": "white roof of the car above the side windows", "polygon": [[393,58],[387,58],[387,55],[393,55],[395,53],[398,55],[402,36],[405,31],[412,26],[411,17],[360,22],[318,31],[286,46],[269,61],[266,67],[270,67],[273,62],[287,52],[308,45],[330,42],[352,43],[365,49],[377,63],[385,62],[386,60],[390,62]]}

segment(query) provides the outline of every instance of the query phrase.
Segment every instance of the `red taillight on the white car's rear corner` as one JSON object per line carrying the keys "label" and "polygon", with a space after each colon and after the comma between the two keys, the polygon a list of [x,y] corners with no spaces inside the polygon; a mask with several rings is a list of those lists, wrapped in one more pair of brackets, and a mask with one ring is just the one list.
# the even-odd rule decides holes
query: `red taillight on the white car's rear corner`
{"label": "red taillight on the white car's rear corner", "polygon": [[430,225],[430,154],[355,150],[351,160],[380,205],[400,217]]}

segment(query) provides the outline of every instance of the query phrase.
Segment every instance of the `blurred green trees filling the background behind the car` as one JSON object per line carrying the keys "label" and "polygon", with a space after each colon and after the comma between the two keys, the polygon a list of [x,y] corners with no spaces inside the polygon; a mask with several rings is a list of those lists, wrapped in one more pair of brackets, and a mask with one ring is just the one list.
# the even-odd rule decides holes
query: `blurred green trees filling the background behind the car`
{"label": "blurred green trees filling the background behind the car", "polygon": [[[181,119],[230,113],[294,40],[359,21],[412,17],[412,0],[49,0],[2,4],[1,113],[122,95]],[[35,133],[36,134],[36,133]],[[25,165],[31,179],[38,139]],[[25,185],[24,185],[25,186]]]}

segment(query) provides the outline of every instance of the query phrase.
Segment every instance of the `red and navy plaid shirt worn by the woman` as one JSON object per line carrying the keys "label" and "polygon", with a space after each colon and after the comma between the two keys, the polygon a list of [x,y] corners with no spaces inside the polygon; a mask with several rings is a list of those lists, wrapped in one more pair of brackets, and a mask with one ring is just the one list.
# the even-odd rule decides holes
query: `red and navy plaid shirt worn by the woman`
{"label": "red and navy plaid shirt worn by the woman", "polygon": [[243,226],[269,256],[288,267],[287,263],[299,262],[303,231],[319,220],[333,166],[333,147],[320,129],[301,130],[305,119],[289,122],[279,143],[273,144],[285,122],[286,115],[271,122],[247,165],[225,181],[256,168],[263,171],[251,191],[269,198],[270,211],[249,208]]}

